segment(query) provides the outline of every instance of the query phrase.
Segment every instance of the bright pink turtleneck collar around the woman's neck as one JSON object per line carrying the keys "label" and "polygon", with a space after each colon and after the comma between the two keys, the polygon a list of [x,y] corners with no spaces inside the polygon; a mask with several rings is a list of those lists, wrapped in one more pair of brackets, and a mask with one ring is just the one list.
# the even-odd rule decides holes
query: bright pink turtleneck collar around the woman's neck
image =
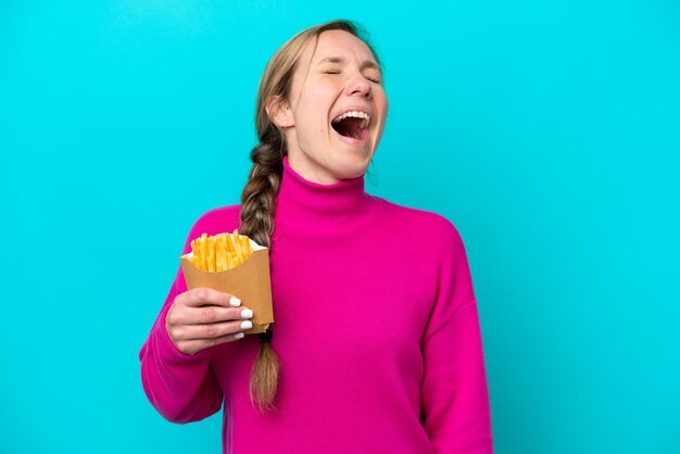
{"label": "bright pink turtleneck collar around the woman's neck", "polygon": [[281,186],[275,223],[324,231],[351,226],[368,211],[373,198],[364,192],[364,177],[332,185],[308,181],[292,169],[284,156]]}

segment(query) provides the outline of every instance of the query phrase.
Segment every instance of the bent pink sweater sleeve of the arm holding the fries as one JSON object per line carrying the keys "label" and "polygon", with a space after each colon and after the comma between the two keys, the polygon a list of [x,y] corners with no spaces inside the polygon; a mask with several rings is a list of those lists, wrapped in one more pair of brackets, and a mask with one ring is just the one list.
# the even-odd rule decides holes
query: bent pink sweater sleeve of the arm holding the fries
{"label": "bent pink sweater sleeve of the arm holding the fries", "polygon": [[[185,244],[184,253],[190,251],[191,239],[203,231],[211,231],[205,215],[199,219]],[[223,392],[211,366],[211,349],[194,355],[180,352],[165,329],[165,316],[175,297],[185,292],[181,268],[177,272],[161,314],[149,338],[139,352],[141,381],[151,404],[163,417],[173,423],[203,419],[219,411]]]}

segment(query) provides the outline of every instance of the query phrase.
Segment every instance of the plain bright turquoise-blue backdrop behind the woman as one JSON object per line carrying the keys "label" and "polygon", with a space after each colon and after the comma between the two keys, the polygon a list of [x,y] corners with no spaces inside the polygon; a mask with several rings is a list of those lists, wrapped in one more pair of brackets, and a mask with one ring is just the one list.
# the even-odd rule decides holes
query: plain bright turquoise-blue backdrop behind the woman
{"label": "plain bright turquoise-blue backdrop behind the woman", "polygon": [[367,190],[461,231],[498,453],[680,453],[672,0],[0,3],[2,453],[217,453],[138,350],[193,220],[237,203],[273,52],[363,23]]}

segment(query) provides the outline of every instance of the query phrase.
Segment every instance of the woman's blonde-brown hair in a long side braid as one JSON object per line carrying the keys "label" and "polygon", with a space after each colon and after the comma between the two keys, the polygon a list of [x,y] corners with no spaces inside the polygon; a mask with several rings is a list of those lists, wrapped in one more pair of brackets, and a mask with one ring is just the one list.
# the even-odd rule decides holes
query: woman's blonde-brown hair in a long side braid
{"label": "woman's blonde-brown hair in a long side braid", "polygon": [[[300,31],[290,38],[272,56],[264,70],[255,106],[255,130],[257,143],[250,153],[253,162],[248,182],[241,194],[240,231],[272,251],[274,212],[276,197],[281,185],[284,156],[288,150],[282,133],[269,117],[266,106],[272,99],[287,100],[300,55],[312,39],[327,30],[344,30],[362,39],[377,55],[365,39],[363,30],[350,21],[331,21]],[[261,412],[275,408],[278,386],[279,361],[272,348],[272,326],[261,335],[260,352],[250,377],[250,399]]]}

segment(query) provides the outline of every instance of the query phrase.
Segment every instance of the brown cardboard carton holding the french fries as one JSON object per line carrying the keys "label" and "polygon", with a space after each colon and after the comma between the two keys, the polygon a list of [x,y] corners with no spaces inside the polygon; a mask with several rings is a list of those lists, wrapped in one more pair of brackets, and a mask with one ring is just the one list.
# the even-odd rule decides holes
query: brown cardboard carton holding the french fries
{"label": "brown cardboard carton holding the french fries", "polygon": [[269,250],[250,240],[253,251],[245,262],[226,272],[205,272],[189,262],[192,252],[179,261],[187,288],[209,287],[232,294],[241,300],[241,306],[253,310],[253,327],[247,335],[264,332],[274,323],[272,307],[272,282],[269,280]]}

